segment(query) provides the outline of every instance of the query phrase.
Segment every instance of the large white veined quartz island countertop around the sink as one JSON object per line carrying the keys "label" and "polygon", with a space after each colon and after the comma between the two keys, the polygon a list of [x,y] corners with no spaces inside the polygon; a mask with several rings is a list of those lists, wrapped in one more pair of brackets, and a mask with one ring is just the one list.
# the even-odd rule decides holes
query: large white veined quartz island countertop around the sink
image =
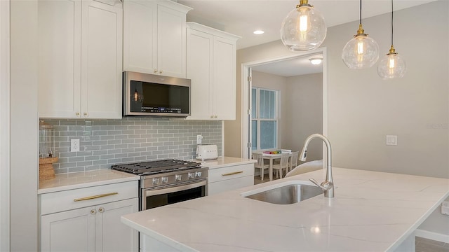
{"label": "large white veined quartz island countertop around the sink", "polygon": [[394,251],[449,196],[449,179],[333,168],[335,198],[270,204],[241,193],[322,170],[121,217],[180,251]]}

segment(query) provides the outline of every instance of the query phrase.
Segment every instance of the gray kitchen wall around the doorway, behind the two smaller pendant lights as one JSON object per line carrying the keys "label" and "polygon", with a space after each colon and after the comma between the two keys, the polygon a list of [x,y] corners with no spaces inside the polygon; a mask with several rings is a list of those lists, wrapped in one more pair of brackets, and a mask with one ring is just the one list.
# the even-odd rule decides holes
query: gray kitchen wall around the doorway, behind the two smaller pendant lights
{"label": "gray kitchen wall around the doorway, behind the two smaller pendant lights", "polygon": [[[322,46],[327,48],[333,166],[449,178],[448,18],[448,1],[395,12],[394,45],[408,65],[406,76],[396,80],[381,80],[375,67],[352,71],[344,66],[342,48],[356,34],[358,22],[328,29]],[[390,46],[389,20],[389,14],[363,19],[382,55]],[[238,50],[237,97],[242,63],[292,53],[281,41]],[[241,118],[239,99],[236,106]],[[225,122],[225,155],[239,157],[241,130],[236,125],[241,121]],[[385,145],[387,134],[398,135],[398,146]],[[431,216],[449,226],[447,217]]]}

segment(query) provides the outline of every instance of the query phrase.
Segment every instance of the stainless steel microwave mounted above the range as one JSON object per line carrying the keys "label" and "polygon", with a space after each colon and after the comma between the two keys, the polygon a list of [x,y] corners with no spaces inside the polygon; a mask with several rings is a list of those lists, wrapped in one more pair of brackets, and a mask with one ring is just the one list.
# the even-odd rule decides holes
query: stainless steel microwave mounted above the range
{"label": "stainless steel microwave mounted above the range", "polygon": [[190,80],[123,72],[123,116],[190,116]]}

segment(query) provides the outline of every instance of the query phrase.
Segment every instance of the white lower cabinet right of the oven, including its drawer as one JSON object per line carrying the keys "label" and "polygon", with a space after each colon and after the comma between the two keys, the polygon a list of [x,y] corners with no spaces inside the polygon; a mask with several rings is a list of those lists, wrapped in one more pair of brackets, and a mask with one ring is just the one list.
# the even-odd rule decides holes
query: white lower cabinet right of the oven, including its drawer
{"label": "white lower cabinet right of the oven, including its drawer", "polygon": [[254,164],[230,165],[208,170],[208,195],[254,185]]}

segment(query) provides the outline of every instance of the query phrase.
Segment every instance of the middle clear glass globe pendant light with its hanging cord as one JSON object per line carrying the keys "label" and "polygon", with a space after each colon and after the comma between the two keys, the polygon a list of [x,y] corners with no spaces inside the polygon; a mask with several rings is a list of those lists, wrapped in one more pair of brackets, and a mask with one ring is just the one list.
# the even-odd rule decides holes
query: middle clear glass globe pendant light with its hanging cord
{"label": "middle clear glass globe pendant light with its hanging cord", "polygon": [[362,27],[362,0],[360,0],[360,23],[357,34],[344,45],[342,59],[349,69],[366,69],[379,59],[379,45],[365,34]]}

